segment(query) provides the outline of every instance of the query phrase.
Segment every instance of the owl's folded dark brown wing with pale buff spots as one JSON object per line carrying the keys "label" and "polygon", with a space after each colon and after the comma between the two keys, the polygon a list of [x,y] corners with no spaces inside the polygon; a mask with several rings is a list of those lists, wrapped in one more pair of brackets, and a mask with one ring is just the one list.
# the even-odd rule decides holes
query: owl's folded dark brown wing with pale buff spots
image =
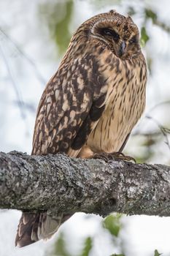
{"label": "owl's folded dark brown wing with pale buff spots", "polygon": [[76,157],[104,111],[105,82],[90,56],[61,66],[39,102],[32,154],[69,151]]}

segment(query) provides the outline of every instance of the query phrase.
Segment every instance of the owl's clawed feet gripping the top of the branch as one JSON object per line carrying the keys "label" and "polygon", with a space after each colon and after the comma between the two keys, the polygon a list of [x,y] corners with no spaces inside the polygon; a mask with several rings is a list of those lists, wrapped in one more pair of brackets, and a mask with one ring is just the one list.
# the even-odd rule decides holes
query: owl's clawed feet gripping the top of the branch
{"label": "owl's clawed feet gripping the top of the branch", "polygon": [[136,163],[136,159],[134,157],[125,156],[122,152],[113,152],[113,153],[96,153],[93,155],[94,159],[103,159],[105,162],[109,162],[109,160],[124,160],[124,161],[134,161]]}

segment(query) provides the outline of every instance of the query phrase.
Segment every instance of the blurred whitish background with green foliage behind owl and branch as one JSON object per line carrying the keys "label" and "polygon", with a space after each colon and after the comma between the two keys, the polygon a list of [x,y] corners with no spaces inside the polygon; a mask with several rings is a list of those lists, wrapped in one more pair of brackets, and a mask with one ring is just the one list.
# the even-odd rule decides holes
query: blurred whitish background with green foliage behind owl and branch
{"label": "blurred whitish background with green foliage behind owl and branch", "polygon": [[[16,149],[30,153],[39,97],[47,80],[58,68],[73,32],[93,15],[116,9],[131,15],[139,26],[140,42],[149,72],[147,108],[125,147],[125,153],[134,156],[138,162],[170,163],[169,1],[1,0],[0,8],[1,151]],[[154,217],[133,218],[112,214],[103,220],[93,215],[75,214],[52,241],[47,244],[39,242],[18,251],[13,249],[12,244],[19,219],[18,211],[1,211],[0,214],[2,256],[170,254],[169,242],[160,238],[161,232],[166,233],[168,229],[169,220],[166,221],[166,218],[161,221]],[[147,227],[149,225],[150,228]],[[161,226],[160,229],[156,227],[155,230],[155,225]],[[142,228],[144,233],[141,235]],[[129,230],[133,232],[129,233]],[[4,247],[4,238],[9,238],[7,247]]]}

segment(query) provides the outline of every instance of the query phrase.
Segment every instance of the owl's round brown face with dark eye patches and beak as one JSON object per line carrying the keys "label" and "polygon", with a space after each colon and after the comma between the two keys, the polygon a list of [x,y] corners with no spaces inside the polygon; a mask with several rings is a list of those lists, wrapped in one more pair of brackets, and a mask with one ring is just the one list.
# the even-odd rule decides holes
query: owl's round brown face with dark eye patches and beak
{"label": "owl's round brown face with dark eye patches and beak", "polygon": [[108,20],[98,20],[93,26],[91,36],[112,50],[118,58],[125,59],[140,51],[139,31],[130,17],[120,16],[121,20],[111,19],[110,16]]}

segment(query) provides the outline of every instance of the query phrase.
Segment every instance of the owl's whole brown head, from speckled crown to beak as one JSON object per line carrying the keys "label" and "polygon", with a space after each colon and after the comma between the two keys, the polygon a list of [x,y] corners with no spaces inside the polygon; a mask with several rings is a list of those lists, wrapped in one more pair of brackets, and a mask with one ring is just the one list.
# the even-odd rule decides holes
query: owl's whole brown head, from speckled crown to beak
{"label": "owl's whole brown head, from speckled crown to beak", "polygon": [[90,18],[82,26],[90,39],[109,48],[121,59],[141,52],[139,30],[130,16],[125,17],[111,10]]}

